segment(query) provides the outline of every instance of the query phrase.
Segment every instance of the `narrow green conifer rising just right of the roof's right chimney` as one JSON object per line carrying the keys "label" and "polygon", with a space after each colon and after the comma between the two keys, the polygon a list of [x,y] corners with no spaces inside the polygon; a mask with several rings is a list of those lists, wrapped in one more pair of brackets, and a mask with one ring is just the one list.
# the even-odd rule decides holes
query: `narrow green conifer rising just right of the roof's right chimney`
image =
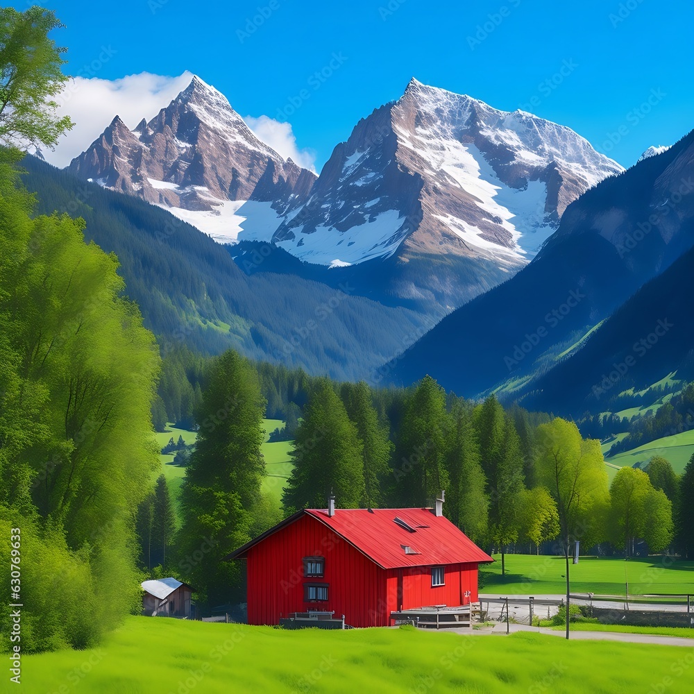
{"label": "narrow green conifer rising just right of the roof's right chimney", "polygon": [[452,417],[447,459],[450,485],[443,510],[473,542],[482,542],[489,531],[489,498],[480,464],[480,443],[471,412],[456,405]]}

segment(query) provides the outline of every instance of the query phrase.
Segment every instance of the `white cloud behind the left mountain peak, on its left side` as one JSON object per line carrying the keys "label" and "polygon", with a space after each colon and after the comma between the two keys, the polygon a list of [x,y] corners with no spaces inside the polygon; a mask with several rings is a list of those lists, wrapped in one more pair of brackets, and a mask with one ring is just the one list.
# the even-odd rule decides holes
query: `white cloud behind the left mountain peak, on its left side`
{"label": "white cloud behind the left mountain peak, on its left side", "polygon": [[135,128],[143,118],[149,121],[187,87],[192,77],[186,71],[178,77],[142,72],[113,81],[71,78],[56,101],[59,114],[69,115],[75,126],[60,138],[55,151],[43,151],[46,161],[66,167],[117,115],[129,128]]}

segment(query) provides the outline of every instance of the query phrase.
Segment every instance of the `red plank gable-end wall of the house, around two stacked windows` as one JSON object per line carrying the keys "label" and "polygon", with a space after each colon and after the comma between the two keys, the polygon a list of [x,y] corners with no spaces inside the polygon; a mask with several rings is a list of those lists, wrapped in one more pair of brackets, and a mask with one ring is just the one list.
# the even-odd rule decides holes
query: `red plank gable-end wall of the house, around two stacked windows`
{"label": "red plank gable-end wall of the house, around two stacked windows", "polygon": [[[323,578],[303,578],[303,557],[325,557]],[[248,549],[248,624],[280,616],[335,610],[353,627],[389,623],[385,572],[323,523],[302,516]],[[327,583],[328,602],[304,602],[305,583]]]}

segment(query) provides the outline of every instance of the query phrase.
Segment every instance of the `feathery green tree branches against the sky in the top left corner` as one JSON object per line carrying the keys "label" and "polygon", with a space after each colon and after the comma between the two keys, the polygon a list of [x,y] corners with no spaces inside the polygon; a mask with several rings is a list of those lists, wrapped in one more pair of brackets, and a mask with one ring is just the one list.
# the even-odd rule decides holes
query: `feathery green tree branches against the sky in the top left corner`
{"label": "feathery green tree branches against the sky in the top left corner", "polygon": [[65,49],[49,38],[60,26],[51,10],[0,8],[1,144],[53,146],[72,127],[69,116],[56,116],[58,103],[51,99],[68,79],[62,74]]}

